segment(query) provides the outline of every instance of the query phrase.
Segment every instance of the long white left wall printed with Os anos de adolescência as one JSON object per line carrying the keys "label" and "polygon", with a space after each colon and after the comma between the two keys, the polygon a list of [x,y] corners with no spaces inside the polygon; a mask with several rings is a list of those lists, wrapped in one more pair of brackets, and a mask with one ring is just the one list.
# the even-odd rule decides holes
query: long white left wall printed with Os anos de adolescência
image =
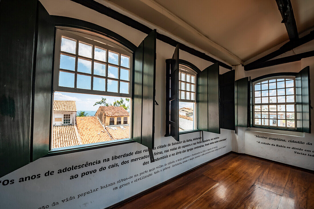
{"label": "long white left wall printed with Os anos de adolesc\u00eancia", "polygon": [[[42,0],[41,2],[51,15],[93,22],[122,35],[137,46],[146,37],[146,34],[138,30],[72,1]],[[155,106],[154,158],[157,159],[156,162],[150,163],[149,158],[131,162],[131,159],[148,156],[148,152],[145,152],[146,148],[136,142],[40,158],[0,179],[2,181],[0,182],[0,207],[105,208],[230,152],[232,133],[234,133],[230,130],[222,129],[221,134],[204,132],[205,142],[201,141],[200,132],[180,135],[179,144],[176,144],[172,137],[164,137],[165,59],[171,58],[174,50],[175,47],[157,40],[156,101],[159,106]],[[180,58],[192,62],[200,69],[212,64],[184,51],[180,51]],[[226,69],[221,69],[221,71],[224,72]],[[125,153],[133,153],[133,155],[123,157]],[[119,155],[122,155],[122,158],[112,159],[112,156]],[[109,159],[109,161],[104,162],[104,159]],[[98,162],[98,160],[100,163],[72,170],[72,165],[75,168],[76,165],[85,165],[85,163]],[[59,169],[66,167],[70,167],[71,170],[58,174]],[[104,167],[106,169],[101,171]],[[47,174],[48,171],[50,175]],[[54,173],[51,175],[52,171]],[[83,176],[90,171],[95,173]],[[77,178],[71,179],[71,176],[74,177],[76,174]],[[137,174],[138,176],[135,176]],[[27,179],[28,176],[33,176],[35,179],[21,181],[25,177]],[[13,180],[14,183],[7,185],[7,180]],[[103,188],[111,183],[115,185]],[[88,191],[93,190],[95,191],[87,194]],[[80,196],[81,194],[83,195]],[[56,202],[59,204],[53,206]]]}

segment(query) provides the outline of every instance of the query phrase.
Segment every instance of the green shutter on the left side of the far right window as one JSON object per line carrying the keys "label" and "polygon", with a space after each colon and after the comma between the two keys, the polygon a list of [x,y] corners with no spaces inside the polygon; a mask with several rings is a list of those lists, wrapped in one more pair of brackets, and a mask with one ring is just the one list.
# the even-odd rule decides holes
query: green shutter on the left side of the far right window
{"label": "green shutter on the left side of the far right window", "polygon": [[241,78],[235,82],[235,123],[236,126],[248,126],[248,77]]}

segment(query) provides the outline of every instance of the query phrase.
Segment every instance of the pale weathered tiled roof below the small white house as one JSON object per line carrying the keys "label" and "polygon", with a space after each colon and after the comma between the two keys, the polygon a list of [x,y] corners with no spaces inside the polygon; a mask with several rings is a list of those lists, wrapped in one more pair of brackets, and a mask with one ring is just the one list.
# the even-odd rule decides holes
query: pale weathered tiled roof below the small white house
{"label": "pale weathered tiled roof below the small white house", "polygon": [[54,126],[52,132],[51,148],[69,147],[81,144],[74,125]]}

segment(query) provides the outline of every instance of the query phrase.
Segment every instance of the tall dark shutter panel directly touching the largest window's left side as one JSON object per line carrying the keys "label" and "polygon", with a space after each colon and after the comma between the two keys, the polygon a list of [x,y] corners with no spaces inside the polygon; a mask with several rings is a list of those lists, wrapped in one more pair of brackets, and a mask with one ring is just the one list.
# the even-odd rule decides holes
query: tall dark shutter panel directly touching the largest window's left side
{"label": "tall dark shutter panel directly touching the largest window's left side", "polygon": [[54,43],[54,22],[44,6],[38,1],[37,51],[34,85],[34,123],[31,161],[49,151],[51,131],[51,76]]}

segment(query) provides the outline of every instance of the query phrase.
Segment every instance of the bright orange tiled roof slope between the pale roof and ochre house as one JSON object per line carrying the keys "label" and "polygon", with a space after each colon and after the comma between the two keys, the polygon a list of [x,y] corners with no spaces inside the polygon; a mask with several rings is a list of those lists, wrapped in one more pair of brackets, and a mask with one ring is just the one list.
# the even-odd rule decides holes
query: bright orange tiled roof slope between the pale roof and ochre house
{"label": "bright orange tiled roof slope between the pale roof and ochre house", "polygon": [[111,141],[111,137],[96,116],[76,117],[82,144]]}

